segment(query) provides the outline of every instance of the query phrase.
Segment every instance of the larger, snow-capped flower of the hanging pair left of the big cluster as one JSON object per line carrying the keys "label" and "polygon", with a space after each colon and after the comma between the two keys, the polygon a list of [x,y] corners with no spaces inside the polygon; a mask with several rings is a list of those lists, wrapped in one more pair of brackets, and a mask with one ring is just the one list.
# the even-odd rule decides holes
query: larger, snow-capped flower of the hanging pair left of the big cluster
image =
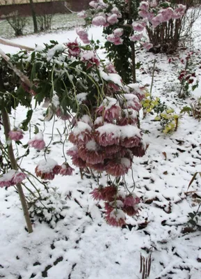
{"label": "larger, snow-capped flower of the hanging pair left of the big cluster", "polygon": [[40,160],[38,166],[35,167],[35,174],[41,179],[52,180],[55,174],[58,174],[59,167],[54,159]]}

